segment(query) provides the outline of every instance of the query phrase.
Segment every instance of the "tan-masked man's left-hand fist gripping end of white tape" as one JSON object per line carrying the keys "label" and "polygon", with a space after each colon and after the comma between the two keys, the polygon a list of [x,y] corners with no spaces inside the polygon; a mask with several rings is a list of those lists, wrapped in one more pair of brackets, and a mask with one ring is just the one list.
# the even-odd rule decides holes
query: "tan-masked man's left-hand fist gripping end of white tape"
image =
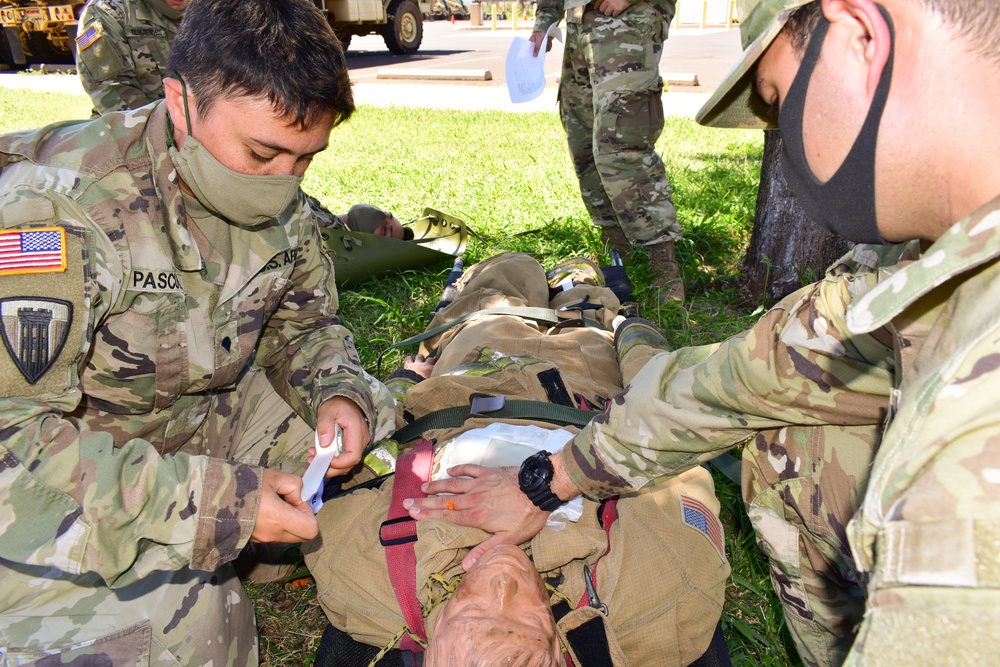
{"label": "tan-masked man's left-hand fist gripping end of white tape", "polygon": [[257,522],[250,539],[290,544],[316,537],[319,524],[312,508],[302,502],[301,492],[301,477],[265,469]]}

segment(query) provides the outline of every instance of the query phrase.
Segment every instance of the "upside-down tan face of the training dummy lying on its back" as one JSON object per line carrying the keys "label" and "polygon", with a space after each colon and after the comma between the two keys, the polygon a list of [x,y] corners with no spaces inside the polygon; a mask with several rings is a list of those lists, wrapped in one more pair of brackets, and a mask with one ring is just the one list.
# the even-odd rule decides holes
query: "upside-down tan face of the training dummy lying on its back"
{"label": "upside-down tan face of the training dummy lying on its back", "polygon": [[[480,656],[470,659],[470,655]],[[555,666],[560,661],[548,594],[519,548],[483,555],[448,601],[427,653],[427,667],[498,664]]]}

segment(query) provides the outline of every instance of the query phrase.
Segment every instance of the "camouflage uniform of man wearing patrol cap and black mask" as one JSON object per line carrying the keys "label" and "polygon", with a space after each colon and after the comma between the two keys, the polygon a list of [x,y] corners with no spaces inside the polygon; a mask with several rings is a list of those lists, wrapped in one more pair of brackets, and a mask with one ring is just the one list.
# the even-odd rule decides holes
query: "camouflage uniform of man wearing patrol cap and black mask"
{"label": "camouflage uniform of man wearing patrol cap and black mask", "polygon": [[991,662],[998,222],[1000,198],[926,250],[858,246],[747,333],[658,357],[577,436],[571,477],[602,497],[745,442],[807,664]]}

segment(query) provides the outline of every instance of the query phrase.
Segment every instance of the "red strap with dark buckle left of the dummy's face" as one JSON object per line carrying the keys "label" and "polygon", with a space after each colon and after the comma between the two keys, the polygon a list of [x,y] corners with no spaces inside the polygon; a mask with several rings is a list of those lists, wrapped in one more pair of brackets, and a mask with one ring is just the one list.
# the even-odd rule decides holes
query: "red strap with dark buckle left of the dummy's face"
{"label": "red strap with dark buckle left of the dummy's face", "polygon": [[[424,641],[424,615],[417,599],[417,556],[413,543],[417,541],[416,522],[403,509],[407,498],[424,498],[420,485],[431,478],[434,465],[434,444],[421,438],[417,446],[396,461],[396,479],[392,486],[392,502],[387,520],[379,529],[379,539],[385,546],[385,560],[389,565],[389,580],[396,591],[396,600],[410,632]],[[423,652],[423,647],[404,633],[400,648],[413,653]]]}

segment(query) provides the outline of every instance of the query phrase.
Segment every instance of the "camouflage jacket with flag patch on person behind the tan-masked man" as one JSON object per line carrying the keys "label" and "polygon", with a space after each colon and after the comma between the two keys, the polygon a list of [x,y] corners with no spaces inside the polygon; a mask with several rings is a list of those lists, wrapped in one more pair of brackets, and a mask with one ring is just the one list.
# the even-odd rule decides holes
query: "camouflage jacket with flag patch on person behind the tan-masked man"
{"label": "camouflage jacket with flag patch on person behind the tan-masked man", "polygon": [[163,98],[170,44],[180,19],[146,0],[91,0],[80,16],[76,68],[94,115]]}

